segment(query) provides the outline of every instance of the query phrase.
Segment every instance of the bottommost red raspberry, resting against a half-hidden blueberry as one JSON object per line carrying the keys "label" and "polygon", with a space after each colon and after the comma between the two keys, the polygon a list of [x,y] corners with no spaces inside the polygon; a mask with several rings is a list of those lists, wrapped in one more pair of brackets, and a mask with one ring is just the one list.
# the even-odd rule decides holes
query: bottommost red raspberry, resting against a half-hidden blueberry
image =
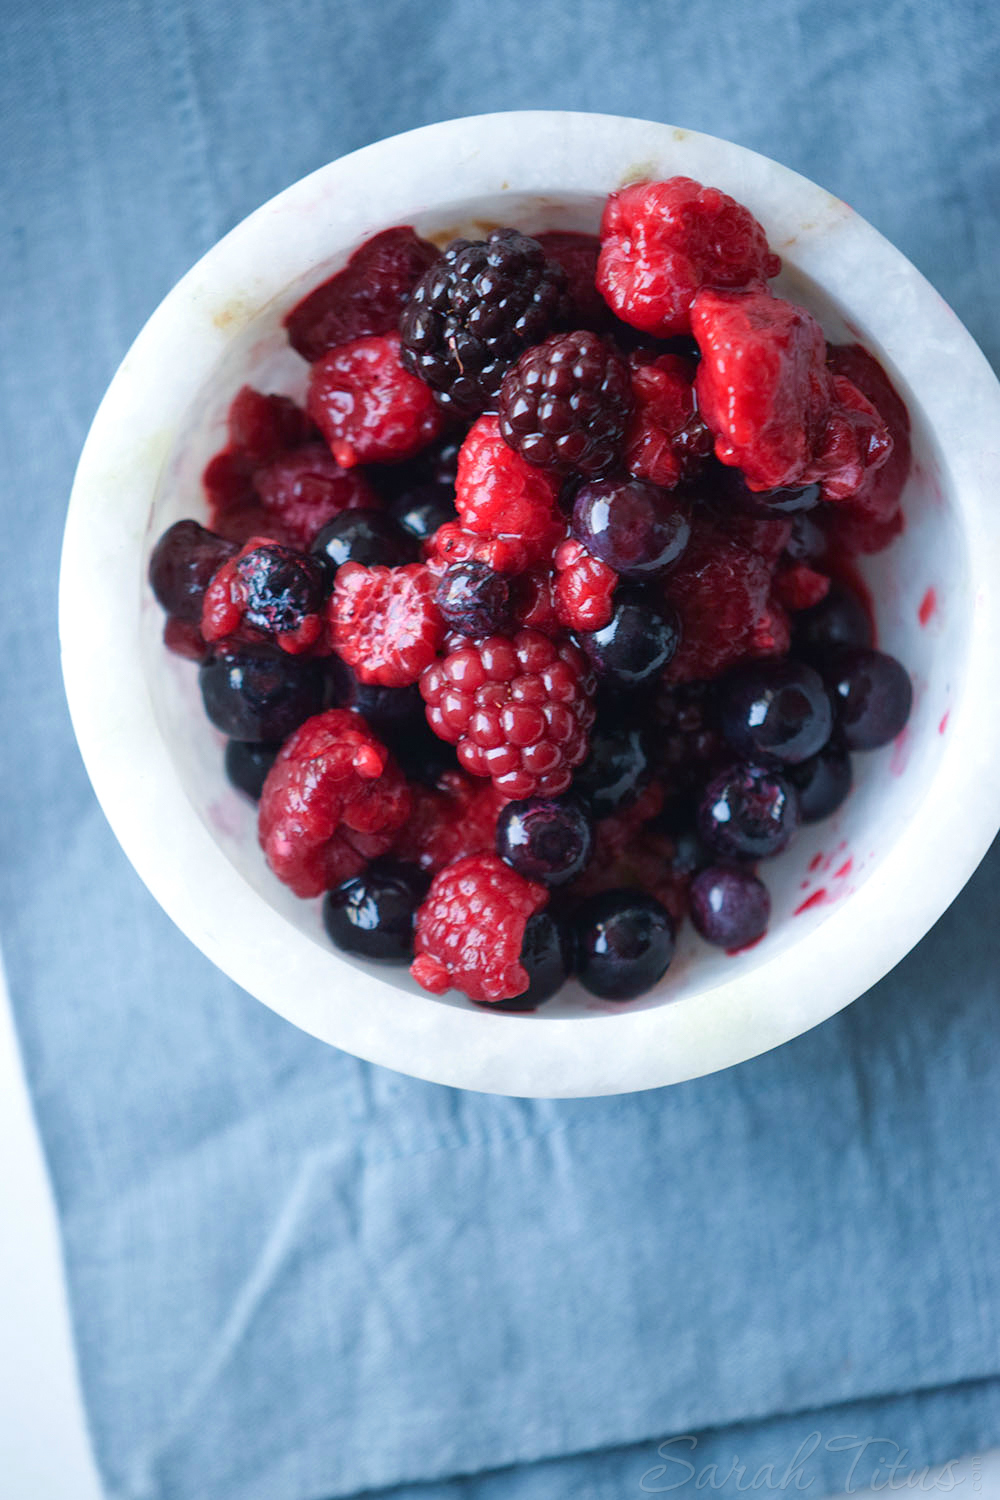
{"label": "bottommost red raspberry, resting against a half-hidden blueberry", "polygon": [[459,988],[471,1000],[513,1000],[529,984],[520,962],[528,920],[549,892],[525,880],[495,854],[472,854],[441,870],[417,910],[409,972],[444,994]]}

